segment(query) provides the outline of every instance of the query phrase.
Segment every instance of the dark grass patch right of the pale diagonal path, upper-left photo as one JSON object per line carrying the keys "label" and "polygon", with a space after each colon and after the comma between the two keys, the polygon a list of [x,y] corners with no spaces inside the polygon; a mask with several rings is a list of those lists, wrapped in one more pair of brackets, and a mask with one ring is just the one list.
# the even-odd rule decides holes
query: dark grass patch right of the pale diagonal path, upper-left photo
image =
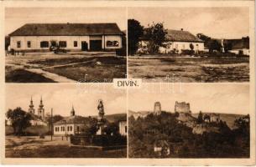
{"label": "dark grass patch right of the pale diagonal path, upper-left photo", "polygon": [[125,78],[125,59],[99,57],[90,60],[73,66],[47,68],[45,70],[76,81],[84,79],[85,76],[86,82],[112,82],[112,78]]}

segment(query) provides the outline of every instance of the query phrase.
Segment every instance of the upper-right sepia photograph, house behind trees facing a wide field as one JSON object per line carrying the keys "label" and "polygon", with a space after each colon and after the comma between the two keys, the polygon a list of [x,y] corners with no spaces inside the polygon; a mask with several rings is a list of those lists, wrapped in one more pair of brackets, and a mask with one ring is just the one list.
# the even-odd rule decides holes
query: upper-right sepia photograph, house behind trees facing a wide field
{"label": "upper-right sepia photograph, house behind trees facing a wide field", "polygon": [[246,7],[128,8],[129,78],[248,82],[249,56]]}

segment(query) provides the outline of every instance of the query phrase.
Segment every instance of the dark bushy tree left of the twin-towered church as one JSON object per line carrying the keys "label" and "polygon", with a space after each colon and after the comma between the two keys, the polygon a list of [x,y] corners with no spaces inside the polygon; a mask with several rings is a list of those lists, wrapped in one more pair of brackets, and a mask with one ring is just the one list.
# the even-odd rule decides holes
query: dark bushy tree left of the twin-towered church
{"label": "dark bushy tree left of the twin-towered church", "polygon": [[32,119],[31,114],[25,112],[20,107],[16,109],[8,109],[6,113],[8,119],[10,119],[14,134],[21,135],[24,129],[31,126],[30,120]]}

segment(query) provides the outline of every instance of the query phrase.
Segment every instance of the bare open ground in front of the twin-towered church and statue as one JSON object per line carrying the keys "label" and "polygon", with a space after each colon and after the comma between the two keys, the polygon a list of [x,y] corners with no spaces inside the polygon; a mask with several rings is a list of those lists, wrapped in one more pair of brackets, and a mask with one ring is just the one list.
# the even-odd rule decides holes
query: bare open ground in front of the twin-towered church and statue
{"label": "bare open ground in front of the twin-towered church and statue", "polygon": [[5,155],[12,158],[89,158],[126,157],[127,149],[100,150],[70,147],[70,141],[61,137],[12,136],[5,137]]}

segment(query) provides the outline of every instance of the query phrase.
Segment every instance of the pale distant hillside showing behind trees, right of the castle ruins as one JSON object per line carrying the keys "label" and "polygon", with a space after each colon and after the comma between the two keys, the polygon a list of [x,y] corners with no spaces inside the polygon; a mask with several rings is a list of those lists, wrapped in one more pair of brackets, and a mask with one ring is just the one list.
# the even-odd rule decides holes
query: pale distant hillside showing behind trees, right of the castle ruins
{"label": "pale distant hillside showing behind trees, right of the castle ruins", "polygon": [[[213,114],[213,113],[203,113],[203,114]],[[217,113],[215,113],[217,114]],[[193,117],[197,118],[198,113],[192,114]],[[239,117],[243,117],[243,114],[220,114],[220,119],[222,119],[222,121],[225,121],[227,123],[227,126],[230,129],[234,129],[234,120],[238,119]]]}

